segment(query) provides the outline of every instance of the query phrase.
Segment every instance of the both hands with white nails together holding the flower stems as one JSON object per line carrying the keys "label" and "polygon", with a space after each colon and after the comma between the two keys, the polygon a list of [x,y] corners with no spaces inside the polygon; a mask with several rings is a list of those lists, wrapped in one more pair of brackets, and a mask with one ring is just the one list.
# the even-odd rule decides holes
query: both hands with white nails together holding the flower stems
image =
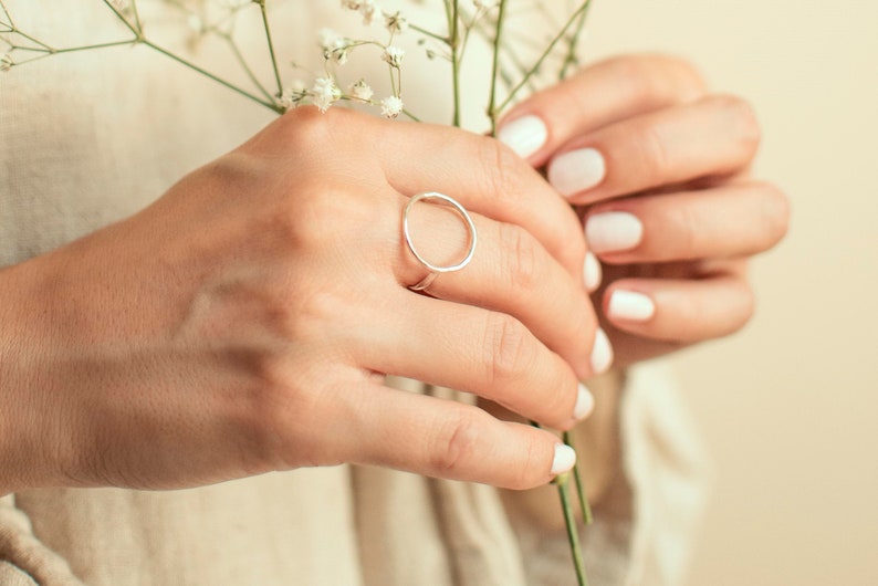
{"label": "both hands with white nails together holding the flower stems", "polygon": [[[0,271],[0,493],[343,462],[524,489],[572,465],[548,431],[385,376],[568,429],[614,350],[626,366],[749,320],[746,259],[783,236],[786,200],[748,177],[751,109],[669,57],[585,69],[500,138],[299,108],[136,216]],[[469,210],[479,249],[422,294],[400,211],[428,190]],[[466,238],[420,210],[428,253]]]}

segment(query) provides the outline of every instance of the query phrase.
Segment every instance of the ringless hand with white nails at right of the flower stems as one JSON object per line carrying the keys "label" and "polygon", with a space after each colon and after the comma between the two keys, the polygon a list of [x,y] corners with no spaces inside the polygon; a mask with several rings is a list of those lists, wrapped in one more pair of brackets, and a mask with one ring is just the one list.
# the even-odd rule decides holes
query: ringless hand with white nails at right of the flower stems
{"label": "ringless hand with white nails at right of the flower stems", "polygon": [[[783,237],[790,211],[748,177],[760,128],[745,102],[709,94],[682,61],[617,57],[522,103],[499,136],[579,206],[617,365],[749,321],[746,259]],[[600,283],[590,254],[586,279]]]}

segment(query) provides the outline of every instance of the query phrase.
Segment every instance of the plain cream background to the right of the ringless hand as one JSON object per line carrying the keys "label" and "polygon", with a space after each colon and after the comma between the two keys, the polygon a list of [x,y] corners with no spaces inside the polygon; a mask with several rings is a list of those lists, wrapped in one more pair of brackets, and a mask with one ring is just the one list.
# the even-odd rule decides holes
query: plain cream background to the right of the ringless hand
{"label": "plain cream background to the right of the ringless hand", "polygon": [[690,584],[878,584],[878,3],[597,0],[587,42],[746,96],[793,202],[755,321],[676,359],[717,465]]}

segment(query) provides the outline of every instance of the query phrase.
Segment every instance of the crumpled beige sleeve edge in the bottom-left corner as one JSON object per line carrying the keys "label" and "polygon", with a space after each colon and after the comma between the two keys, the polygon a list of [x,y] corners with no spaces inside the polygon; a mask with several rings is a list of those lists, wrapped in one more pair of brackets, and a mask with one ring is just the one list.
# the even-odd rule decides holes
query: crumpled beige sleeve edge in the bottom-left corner
{"label": "crumpled beige sleeve edge in the bottom-left corner", "polygon": [[84,586],[67,563],[33,535],[12,494],[0,498],[0,584]]}

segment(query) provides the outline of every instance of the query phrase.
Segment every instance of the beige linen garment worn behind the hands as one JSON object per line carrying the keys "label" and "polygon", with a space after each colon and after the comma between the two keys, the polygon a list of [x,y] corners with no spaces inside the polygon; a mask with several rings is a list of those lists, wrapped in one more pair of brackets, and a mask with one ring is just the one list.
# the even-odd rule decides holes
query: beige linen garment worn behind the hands
{"label": "beige linen garment worn behind the hands", "polygon": [[[8,4],[70,44],[125,33],[101,2]],[[293,50],[312,18],[300,6]],[[271,118],[142,48],[0,74],[0,266],[137,211]],[[703,458],[667,379],[654,367],[628,377],[624,465],[583,531],[596,586],[680,583]],[[0,499],[0,585],[574,584],[563,532],[505,503],[485,485],[356,467],[174,492],[30,490]]]}

